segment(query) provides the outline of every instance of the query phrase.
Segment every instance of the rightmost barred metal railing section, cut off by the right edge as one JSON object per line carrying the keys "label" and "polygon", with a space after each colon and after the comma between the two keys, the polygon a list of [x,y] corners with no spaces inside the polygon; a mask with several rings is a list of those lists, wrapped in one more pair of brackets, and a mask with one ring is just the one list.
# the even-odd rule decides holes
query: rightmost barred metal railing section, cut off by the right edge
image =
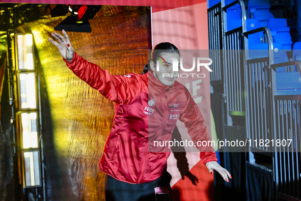
{"label": "rightmost barred metal railing section, cut off by the right edge", "polygon": [[[295,65],[300,72],[300,61],[266,65],[265,67],[271,83],[269,115],[272,123],[272,139],[275,142],[275,146],[273,146],[275,186],[278,196],[287,200],[291,197],[301,199],[301,95],[277,95],[275,69],[292,65]],[[290,146],[286,145],[288,143]]]}

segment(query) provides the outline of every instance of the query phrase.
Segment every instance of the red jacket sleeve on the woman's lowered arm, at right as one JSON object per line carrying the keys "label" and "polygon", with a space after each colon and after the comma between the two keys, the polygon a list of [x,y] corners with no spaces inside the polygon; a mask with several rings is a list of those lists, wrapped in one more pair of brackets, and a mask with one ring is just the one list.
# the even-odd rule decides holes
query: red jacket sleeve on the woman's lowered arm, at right
{"label": "red jacket sleeve on the woman's lowered arm, at right", "polygon": [[[200,158],[203,163],[206,164],[210,161],[217,161],[214,149],[212,148],[211,143],[209,143],[211,139],[207,132],[206,125],[204,124],[204,117],[197,104],[194,102],[194,99],[191,97],[189,91],[186,91],[186,96],[187,102],[179,116],[179,119],[185,123],[189,136],[194,141],[196,147],[200,150]],[[207,141],[207,143],[203,143],[206,146],[198,146],[198,141]]]}

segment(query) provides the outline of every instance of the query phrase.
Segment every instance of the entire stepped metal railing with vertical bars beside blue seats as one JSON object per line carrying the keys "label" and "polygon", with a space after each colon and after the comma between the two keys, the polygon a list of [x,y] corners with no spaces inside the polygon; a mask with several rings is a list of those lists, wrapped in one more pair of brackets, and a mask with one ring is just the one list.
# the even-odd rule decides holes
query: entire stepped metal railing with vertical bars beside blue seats
{"label": "entire stepped metal railing with vertical bars beside blue seats", "polygon": [[[227,9],[237,3],[242,11],[242,27],[227,32]],[[213,60],[211,84],[223,84],[227,114],[245,116],[248,138],[257,139],[256,144],[252,141],[250,151],[272,157],[276,195],[286,200],[301,199],[301,95],[277,95],[275,70],[295,65],[301,78],[301,62],[274,64],[270,30],[259,28],[247,32],[243,2],[224,5],[223,0],[208,9],[209,55]],[[248,36],[262,31],[268,54],[249,59]],[[223,52],[214,51],[221,47]],[[276,145],[287,143],[288,139],[290,147]],[[270,146],[262,146],[260,140],[264,143],[268,140]]]}

